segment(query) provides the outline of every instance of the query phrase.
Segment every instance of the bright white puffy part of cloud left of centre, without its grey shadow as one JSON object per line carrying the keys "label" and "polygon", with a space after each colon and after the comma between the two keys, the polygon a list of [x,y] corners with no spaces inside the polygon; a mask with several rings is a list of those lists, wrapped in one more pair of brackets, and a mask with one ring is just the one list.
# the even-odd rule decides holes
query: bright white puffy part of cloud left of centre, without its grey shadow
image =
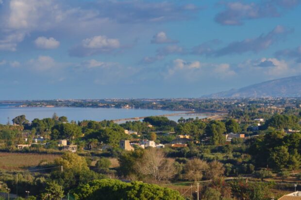
{"label": "bright white puffy part of cloud left of centre, without its grey shadow", "polygon": [[109,39],[105,35],[98,35],[92,38],[84,39],[82,42],[85,48],[99,48],[99,49],[115,49],[119,48],[118,39]]}

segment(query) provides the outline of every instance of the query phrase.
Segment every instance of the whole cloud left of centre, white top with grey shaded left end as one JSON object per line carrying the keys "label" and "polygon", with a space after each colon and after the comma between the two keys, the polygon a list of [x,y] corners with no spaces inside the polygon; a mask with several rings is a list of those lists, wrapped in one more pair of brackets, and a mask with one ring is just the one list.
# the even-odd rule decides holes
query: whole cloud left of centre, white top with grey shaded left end
{"label": "whole cloud left of centre, white top with grey shaded left end", "polygon": [[111,39],[104,35],[98,35],[84,39],[82,44],[74,46],[69,50],[69,55],[83,57],[100,53],[111,53],[118,48],[120,48],[118,39]]}

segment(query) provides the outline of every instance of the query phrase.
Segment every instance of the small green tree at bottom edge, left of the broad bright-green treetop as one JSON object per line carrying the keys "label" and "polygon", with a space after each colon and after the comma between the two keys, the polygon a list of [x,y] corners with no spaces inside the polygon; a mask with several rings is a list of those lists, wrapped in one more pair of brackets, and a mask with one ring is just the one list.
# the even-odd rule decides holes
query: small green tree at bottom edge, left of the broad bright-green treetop
{"label": "small green tree at bottom edge, left of the broad bright-green treetop", "polygon": [[42,200],[61,200],[64,197],[64,191],[61,186],[54,181],[47,183],[44,192],[41,194]]}

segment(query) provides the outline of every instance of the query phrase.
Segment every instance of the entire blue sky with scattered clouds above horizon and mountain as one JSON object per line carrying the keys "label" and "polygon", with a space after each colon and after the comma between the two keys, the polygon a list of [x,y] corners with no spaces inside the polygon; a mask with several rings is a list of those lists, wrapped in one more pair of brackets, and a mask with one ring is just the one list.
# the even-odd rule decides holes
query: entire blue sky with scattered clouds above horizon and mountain
{"label": "entire blue sky with scattered clouds above horizon and mountain", "polygon": [[0,0],[0,100],[178,98],[301,75],[301,0]]}

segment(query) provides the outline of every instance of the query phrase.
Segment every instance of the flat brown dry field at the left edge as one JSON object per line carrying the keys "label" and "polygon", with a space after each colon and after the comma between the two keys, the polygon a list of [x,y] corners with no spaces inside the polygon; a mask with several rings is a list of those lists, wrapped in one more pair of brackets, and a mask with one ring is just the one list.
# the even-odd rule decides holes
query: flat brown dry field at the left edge
{"label": "flat brown dry field at the left edge", "polygon": [[0,152],[0,169],[22,170],[37,166],[40,161],[53,161],[60,155],[54,154],[22,154],[22,153],[2,153]]}

